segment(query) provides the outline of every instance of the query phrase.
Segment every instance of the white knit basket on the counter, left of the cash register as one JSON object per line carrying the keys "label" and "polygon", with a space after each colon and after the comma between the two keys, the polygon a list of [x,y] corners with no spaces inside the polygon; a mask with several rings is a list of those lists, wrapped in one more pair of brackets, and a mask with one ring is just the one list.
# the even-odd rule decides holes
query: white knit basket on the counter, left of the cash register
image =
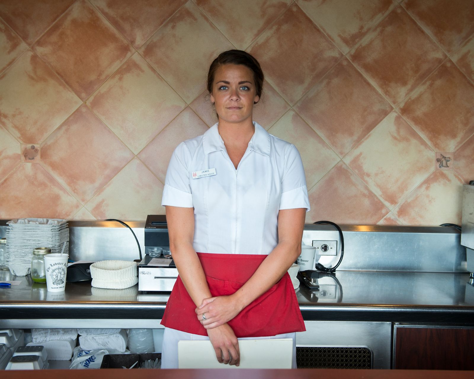
{"label": "white knit basket on the counter, left of the cash register", "polygon": [[138,283],[137,262],[102,260],[91,264],[92,287],[123,289]]}

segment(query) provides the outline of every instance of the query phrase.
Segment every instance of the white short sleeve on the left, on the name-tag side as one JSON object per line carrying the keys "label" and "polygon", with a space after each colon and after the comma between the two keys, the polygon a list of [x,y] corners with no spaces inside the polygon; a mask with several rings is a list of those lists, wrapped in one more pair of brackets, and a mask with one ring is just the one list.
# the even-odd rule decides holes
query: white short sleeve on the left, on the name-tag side
{"label": "white short sleeve on the left, on the name-tag side", "polygon": [[166,171],[161,205],[192,208],[192,194],[189,183],[191,152],[184,142],[174,149]]}

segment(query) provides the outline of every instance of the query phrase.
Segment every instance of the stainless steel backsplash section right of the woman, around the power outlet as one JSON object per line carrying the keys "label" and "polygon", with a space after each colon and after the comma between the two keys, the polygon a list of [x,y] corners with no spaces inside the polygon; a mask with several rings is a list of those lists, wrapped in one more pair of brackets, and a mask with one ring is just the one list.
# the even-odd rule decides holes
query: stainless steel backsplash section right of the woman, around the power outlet
{"label": "stainless steel backsplash section right of the woman, around the power outlet", "polygon": [[[341,225],[344,259],[340,270],[465,272],[466,252],[461,233],[442,226]],[[303,242],[337,240],[330,225],[307,224]],[[316,245],[316,243],[315,243]],[[333,267],[337,256],[322,256],[319,263]]]}

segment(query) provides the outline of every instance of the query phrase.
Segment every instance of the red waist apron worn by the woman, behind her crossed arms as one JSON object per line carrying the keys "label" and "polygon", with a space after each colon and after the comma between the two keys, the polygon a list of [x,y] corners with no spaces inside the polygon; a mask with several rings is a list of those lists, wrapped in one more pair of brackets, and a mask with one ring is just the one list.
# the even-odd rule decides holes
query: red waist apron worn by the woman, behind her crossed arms
{"label": "red waist apron worn by the woman, behind her crossed arms", "polygon": [[[198,253],[212,296],[234,294],[254,274],[266,255]],[[182,332],[207,335],[196,305],[178,276],[161,324]],[[228,322],[237,337],[304,332],[303,317],[288,273]]]}

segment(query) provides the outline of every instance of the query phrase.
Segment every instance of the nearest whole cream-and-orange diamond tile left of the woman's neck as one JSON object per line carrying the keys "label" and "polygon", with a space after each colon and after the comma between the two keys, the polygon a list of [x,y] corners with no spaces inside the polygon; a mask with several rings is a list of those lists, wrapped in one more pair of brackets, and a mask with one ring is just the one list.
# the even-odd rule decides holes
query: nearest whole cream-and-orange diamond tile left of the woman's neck
{"label": "nearest whole cream-and-orange diamond tile left of the woman's neck", "polygon": [[100,86],[88,103],[135,154],[186,106],[138,53]]}

